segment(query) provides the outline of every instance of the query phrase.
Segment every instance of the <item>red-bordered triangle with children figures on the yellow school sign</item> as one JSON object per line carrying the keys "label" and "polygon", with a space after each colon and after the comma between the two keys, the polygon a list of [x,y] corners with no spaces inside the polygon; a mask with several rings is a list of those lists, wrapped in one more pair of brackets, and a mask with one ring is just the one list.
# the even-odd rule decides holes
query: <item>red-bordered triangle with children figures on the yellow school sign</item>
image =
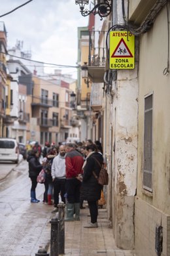
{"label": "red-bordered triangle with children figures on the yellow school sign", "polygon": [[112,54],[111,58],[132,58],[132,57],[133,55],[131,54],[131,51],[127,47],[124,39],[122,38],[118,43],[118,46],[114,50],[114,53]]}

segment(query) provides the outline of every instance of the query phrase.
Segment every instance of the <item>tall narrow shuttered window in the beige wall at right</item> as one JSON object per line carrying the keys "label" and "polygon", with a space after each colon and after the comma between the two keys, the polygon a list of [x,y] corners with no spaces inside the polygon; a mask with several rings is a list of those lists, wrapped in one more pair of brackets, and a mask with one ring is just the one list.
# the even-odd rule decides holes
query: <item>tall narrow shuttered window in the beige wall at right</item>
{"label": "tall narrow shuttered window in the beige wall at right", "polygon": [[143,188],[152,192],[152,95],[144,99]]}

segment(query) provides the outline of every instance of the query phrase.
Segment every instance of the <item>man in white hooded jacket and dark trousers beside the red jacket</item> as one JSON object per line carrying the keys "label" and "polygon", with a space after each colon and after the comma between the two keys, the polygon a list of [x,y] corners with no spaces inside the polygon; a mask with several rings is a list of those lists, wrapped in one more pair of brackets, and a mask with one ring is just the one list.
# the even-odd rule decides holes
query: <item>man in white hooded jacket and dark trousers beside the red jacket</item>
{"label": "man in white hooded jacket and dark trousers beside the red jacket", "polygon": [[65,146],[59,146],[59,154],[52,162],[52,181],[54,184],[54,209],[58,211],[59,193],[61,201],[65,203]]}

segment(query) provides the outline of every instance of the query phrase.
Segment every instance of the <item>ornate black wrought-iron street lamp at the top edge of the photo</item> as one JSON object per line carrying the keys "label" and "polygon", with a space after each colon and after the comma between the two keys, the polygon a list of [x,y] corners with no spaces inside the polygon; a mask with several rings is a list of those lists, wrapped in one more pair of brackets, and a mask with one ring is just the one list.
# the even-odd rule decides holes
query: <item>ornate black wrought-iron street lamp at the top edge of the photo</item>
{"label": "ornate black wrought-iron street lamp at the top edge of the photo", "polygon": [[88,16],[90,13],[93,13],[93,15],[99,14],[101,20],[103,20],[103,17],[107,17],[112,11],[112,0],[103,0],[103,3],[98,3],[91,11],[84,7],[88,5],[89,0],[75,0],[75,3],[80,6],[82,16]]}

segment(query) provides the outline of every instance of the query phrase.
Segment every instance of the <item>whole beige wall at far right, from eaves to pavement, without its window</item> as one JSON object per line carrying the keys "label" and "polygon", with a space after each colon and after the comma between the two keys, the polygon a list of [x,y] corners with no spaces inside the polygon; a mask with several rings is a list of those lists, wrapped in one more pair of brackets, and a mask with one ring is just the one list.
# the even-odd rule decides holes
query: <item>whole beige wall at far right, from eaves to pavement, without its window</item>
{"label": "whole beige wall at far right, from eaves to pavement, without its window", "polygon": [[[156,256],[155,228],[163,226],[163,253],[170,255],[170,79],[167,67],[167,18],[163,8],[149,32],[141,35],[139,56],[139,141],[135,247],[142,256]],[[144,96],[153,93],[152,192],[143,190]],[[168,231],[169,232],[169,231]],[[169,250],[169,251],[168,251]]]}

